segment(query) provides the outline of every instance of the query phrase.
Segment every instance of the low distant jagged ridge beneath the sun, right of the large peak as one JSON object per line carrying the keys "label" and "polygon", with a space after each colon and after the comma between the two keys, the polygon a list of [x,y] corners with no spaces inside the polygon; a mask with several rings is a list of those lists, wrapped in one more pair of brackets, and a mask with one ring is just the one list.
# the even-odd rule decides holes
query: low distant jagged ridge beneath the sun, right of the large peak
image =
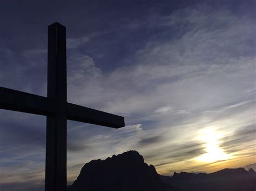
{"label": "low distant jagged ridge beneath the sun, right of the large peak", "polygon": [[256,189],[256,173],[251,168],[225,168],[220,171],[205,173],[174,173],[173,176],[162,176],[165,183],[174,190],[239,190],[254,191]]}

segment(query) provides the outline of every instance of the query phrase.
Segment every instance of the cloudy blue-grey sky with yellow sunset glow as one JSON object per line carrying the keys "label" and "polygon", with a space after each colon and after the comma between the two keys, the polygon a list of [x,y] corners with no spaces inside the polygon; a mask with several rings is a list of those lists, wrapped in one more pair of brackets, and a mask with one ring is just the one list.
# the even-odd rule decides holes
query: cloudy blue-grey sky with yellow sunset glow
{"label": "cloudy blue-grey sky with yellow sunset glow", "polygon": [[[66,26],[68,102],[125,117],[68,121],[68,182],[137,150],[159,174],[256,161],[254,1],[3,1],[0,86],[46,96],[48,25]],[[0,110],[0,189],[43,190],[46,117]]]}

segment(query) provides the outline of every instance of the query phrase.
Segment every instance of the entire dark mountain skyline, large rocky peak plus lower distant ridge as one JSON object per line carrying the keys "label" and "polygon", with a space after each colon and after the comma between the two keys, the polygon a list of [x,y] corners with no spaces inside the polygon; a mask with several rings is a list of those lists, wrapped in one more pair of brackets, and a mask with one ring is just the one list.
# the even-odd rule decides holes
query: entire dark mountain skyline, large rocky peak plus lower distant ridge
{"label": "entire dark mountain skyline, large rocky peak plus lower distant ridge", "polygon": [[206,173],[159,175],[137,151],[113,155],[85,164],[68,191],[256,190],[253,168],[223,169]]}

